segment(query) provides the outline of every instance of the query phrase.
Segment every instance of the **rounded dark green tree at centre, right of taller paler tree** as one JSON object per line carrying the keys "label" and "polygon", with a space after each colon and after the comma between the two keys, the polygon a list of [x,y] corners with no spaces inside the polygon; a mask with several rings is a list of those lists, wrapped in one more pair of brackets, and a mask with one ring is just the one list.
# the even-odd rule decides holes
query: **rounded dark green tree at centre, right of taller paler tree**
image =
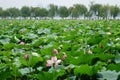
{"label": "rounded dark green tree at centre, right of taller paler tree", "polygon": [[60,17],[65,18],[65,17],[69,16],[69,11],[68,11],[67,7],[61,6],[58,9],[58,14],[60,15]]}

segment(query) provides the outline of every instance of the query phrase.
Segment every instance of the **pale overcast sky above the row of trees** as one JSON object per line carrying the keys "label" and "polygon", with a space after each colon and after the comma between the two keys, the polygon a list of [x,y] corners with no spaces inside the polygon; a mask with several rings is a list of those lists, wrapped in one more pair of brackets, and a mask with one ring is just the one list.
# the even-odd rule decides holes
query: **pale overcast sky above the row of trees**
{"label": "pale overcast sky above the row of trees", "polygon": [[64,5],[67,7],[80,3],[88,7],[91,1],[94,1],[94,3],[120,6],[120,0],[0,0],[0,7],[3,9],[9,7],[21,8],[22,6],[47,7],[51,3],[58,6]]}

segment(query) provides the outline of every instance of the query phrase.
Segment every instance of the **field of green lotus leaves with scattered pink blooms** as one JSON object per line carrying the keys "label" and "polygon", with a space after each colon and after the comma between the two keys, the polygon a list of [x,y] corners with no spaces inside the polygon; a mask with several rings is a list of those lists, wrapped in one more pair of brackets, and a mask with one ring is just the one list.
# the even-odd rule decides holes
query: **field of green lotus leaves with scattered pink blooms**
{"label": "field of green lotus leaves with scattered pink blooms", "polygon": [[0,80],[120,80],[120,21],[0,20]]}

